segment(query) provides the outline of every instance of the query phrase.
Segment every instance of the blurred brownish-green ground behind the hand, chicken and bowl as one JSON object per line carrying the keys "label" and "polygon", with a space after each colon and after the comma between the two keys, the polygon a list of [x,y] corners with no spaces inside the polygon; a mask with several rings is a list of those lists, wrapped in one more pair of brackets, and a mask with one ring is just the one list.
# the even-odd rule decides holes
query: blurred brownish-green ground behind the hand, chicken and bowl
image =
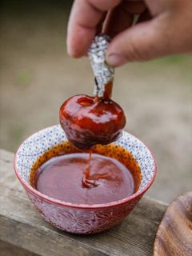
{"label": "blurred brownish-green ground behind the hand, chicken and bowl", "polygon": [[[58,123],[74,94],[92,94],[86,58],[66,54],[71,1],[2,1],[1,147],[15,151],[30,134]],[[153,152],[158,175],[147,193],[170,202],[191,190],[192,56],[129,63],[115,74],[113,98],[126,112],[126,130]]]}

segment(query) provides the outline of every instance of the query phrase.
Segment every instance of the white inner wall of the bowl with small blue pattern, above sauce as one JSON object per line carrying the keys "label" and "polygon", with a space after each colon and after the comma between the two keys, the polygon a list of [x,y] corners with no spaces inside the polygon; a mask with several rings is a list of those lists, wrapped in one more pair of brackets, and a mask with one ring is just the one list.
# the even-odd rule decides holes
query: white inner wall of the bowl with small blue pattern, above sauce
{"label": "white inner wall of the bowl with small blue pattern, above sauce", "polygon": [[[30,170],[37,158],[46,150],[66,140],[66,134],[61,126],[57,125],[40,130],[22,142],[15,156],[15,167],[22,181],[29,186]],[[133,154],[142,173],[142,180],[137,193],[145,190],[146,186],[153,179],[155,172],[154,158],[150,150],[138,138],[135,138],[126,131],[123,131],[122,137],[114,143],[124,147]]]}

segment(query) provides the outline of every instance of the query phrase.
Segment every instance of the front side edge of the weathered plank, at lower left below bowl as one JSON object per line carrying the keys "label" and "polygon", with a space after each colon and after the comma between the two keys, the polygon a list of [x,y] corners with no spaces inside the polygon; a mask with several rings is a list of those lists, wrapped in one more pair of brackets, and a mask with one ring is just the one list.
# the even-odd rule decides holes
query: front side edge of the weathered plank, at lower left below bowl
{"label": "front side edge of the weathered plank, at lower left below bowl", "polygon": [[18,222],[2,215],[0,215],[0,226],[0,240],[41,256],[77,256],[77,254],[109,256],[101,250],[64,237],[56,231],[50,232],[45,228],[31,226],[27,222]]}

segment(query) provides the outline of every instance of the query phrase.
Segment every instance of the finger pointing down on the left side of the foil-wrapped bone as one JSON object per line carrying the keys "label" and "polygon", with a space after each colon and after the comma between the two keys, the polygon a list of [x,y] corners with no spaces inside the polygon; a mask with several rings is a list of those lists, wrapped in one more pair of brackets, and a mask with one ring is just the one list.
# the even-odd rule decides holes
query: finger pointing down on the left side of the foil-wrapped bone
{"label": "finger pointing down on the left side of the foil-wrapped bone", "polygon": [[121,0],[76,0],[71,10],[67,31],[67,51],[74,58],[86,54],[103,14]]}

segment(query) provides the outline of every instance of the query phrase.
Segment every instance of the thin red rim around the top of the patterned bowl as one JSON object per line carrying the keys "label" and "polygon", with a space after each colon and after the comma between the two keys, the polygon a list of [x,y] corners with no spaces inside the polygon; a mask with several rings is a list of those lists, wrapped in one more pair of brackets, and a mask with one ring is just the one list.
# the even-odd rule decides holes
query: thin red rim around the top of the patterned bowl
{"label": "thin red rim around the top of the patterned bowl", "polygon": [[[54,127],[54,126],[50,126],[50,127]],[[47,127],[47,128],[50,128],[50,127]],[[46,130],[47,128],[45,129],[42,129],[42,130]],[[39,130],[41,131],[41,130]],[[38,131],[38,132],[39,132]],[[34,133],[34,134],[38,134],[38,132]],[[125,131],[126,132],[126,131]],[[32,136],[34,136],[34,134],[30,135],[28,138],[26,138],[26,140],[28,140],[29,138],[31,138]],[[126,134],[130,134],[128,132],[126,132]],[[141,142],[144,146],[146,146],[145,143],[143,143],[140,139],[138,139],[137,137],[135,137],[134,135],[130,134],[130,136],[136,138],[138,140],[138,142]],[[25,141],[26,141],[25,140]],[[23,142],[25,142],[23,141]],[[20,147],[22,146],[23,142],[21,143],[21,145],[18,147],[18,150],[20,149]],[[111,206],[121,206],[122,204],[125,204],[126,202],[130,202],[131,200],[133,200],[134,198],[138,198],[140,196],[142,196],[142,194],[144,194],[146,192],[146,190],[148,190],[150,188],[150,186],[153,184],[154,182],[154,178],[157,174],[157,164],[154,160],[154,155],[150,152],[149,148],[146,146],[146,149],[149,151],[149,153],[151,154],[152,158],[153,158],[153,161],[154,161],[154,175],[153,177],[151,178],[150,182],[147,184],[147,186],[141,190],[140,192],[136,192],[134,194],[132,194],[130,197],[128,198],[123,198],[122,200],[118,200],[118,201],[114,201],[114,202],[108,202],[108,203],[105,203],[105,204],[94,204],[94,205],[86,205],[86,204],[74,204],[74,203],[71,203],[71,202],[64,202],[64,201],[61,201],[61,200],[58,200],[58,199],[54,199],[54,198],[50,198],[49,196],[46,196],[46,194],[42,194],[41,192],[39,192],[38,190],[35,190],[32,186],[26,184],[26,182],[24,182],[19,174],[19,171],[18,171],[18,168],[16,166],[16,158],[17,158],[17,155],[18,155],[18,150],[16,151],[16,153],[14,154],[14,171],[15,171],[15,174],[16,176],[18,177],[18,180],[19,182],[22,183],[22,186],[28,190],[28,192],[30,192],[31,194],[34,194],[36,196],[38,196],[39,198],[41,198],[43,201],[46,201],[46,202],[50,202],[50,203],[53,203],[53,204],[56,204],[56,205],[59,205],[59,206],[65,206],[65,207],[69,207],[69,208],[76,208],[76,209],[82,209],[82,210],[85,210],[85,209],[103,209],[103,208],[108,208],[108,207],[111,207]]]}

